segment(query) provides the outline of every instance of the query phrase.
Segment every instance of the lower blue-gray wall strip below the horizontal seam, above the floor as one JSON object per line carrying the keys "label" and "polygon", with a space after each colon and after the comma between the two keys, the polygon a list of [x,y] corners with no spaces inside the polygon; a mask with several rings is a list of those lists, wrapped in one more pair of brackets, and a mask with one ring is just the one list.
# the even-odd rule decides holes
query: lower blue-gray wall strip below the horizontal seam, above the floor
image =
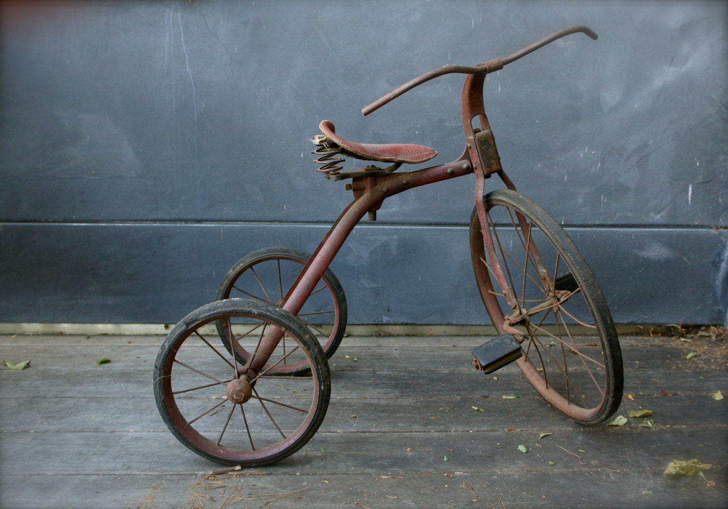
{"label": "lower blue-gray wall strip below the horizontal seam, above the floor", "polygon": [[[237,259],[312,252],[306,224],[3,224],[0,322],[175,323]],[[569,229],[618,323],[722,323],[728,232]],[[504,240],[504,242],[506,242]],[[350,323],[489,323],[465,226],[357,226],[332,264]]]}

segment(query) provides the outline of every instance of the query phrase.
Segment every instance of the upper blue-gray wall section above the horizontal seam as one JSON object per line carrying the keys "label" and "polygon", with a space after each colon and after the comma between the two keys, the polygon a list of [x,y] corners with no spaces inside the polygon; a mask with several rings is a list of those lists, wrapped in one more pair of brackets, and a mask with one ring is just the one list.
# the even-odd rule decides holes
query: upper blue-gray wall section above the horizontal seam
{"label": "upper blue-gray wall section above the horizontal seam", "polygon": [[[363,141],[462,151],[446,63],[571,36],[491,76],[505,167],[571,224],[725,224],[723,2],[64,2],[4,7],[0,217],[331,221],[312,173],[321,119]],[[303,154],[303,157],[301,157]],[[234,189],[234,192],[231,191]],[[461,221],[440,189],[395,221]],[[448,194],[467,197],[470,183]],[[312,194],[314,200],[303,199]],[[128,197],[135,197],[128,200]]]}

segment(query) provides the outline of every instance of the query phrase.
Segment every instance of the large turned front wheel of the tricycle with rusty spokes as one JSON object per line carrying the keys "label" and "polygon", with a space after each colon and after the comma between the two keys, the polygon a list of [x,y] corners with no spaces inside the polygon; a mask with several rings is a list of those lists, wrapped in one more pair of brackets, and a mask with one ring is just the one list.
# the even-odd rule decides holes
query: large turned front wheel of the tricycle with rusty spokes
{"label": "large turned front wheel of the tricycle with rusty spokes", "polygon": [[488,315],[500,334],[518,331],[523,357],[516,363],[551,405],[581,424],[604,421],[622,399],[622,354],[584,256],[561,225],[523,194],[500,189],[483,200],[488,230],[481,229],[474,208],[470,250]]}

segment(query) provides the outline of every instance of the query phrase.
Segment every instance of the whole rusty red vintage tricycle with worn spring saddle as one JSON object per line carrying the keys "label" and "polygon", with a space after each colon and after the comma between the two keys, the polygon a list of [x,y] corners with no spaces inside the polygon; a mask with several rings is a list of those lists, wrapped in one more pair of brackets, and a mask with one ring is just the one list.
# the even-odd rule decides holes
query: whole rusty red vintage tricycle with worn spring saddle
{"label": "whole rusty red vintage tricycle with worn spring saddle", "polygon": [[[328,358],[347,325],[347,300],[329,264],[355,225],[387,197],[475,174],[470,251],[475,282],[499,335],[473,350],[491,372],[515,360],[555,409],[595,424],[622,397],[622,358],[604,295],[563,228],[515,190],[501,167],[483,106],[486,74],[585,26],[553,33],[507,58],[475,67],[444,66],[363,109],[372,111],[437,76],[465,74],[465,149],[446,165],[396,172],[437,155],[427,146],[355,143],[320,124],[315,162],[326,178],[351,179],[354,200],[313,254],[294,248],[250,253],[224,277],[217,299],[184,317],[162,344],[154,396],[167,427],[215,462],[256,466],[298,451],[316,433],[331,395]],[[344,171],[344,157],[384,163]],[[505,189],[486,194],[497,175]],[[436,362],[436,361],[435,361]]]}

